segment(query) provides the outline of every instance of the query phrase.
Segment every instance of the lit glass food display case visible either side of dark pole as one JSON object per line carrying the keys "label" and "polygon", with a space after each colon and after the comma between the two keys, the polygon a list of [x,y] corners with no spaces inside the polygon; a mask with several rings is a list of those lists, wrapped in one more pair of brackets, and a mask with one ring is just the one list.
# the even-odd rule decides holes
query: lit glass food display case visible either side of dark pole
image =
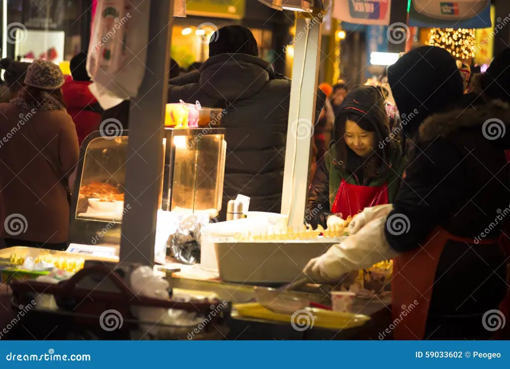
{"label": "lit glass food display case visible either side of dark pole", "polygon": [[[118,247],[124,206],[127,131],[119,137],[89,135],[81,148],[71,201],[69,242]],[[165,128],[160,208],[168,212],[221,209],[226,142],[224,128]]]}

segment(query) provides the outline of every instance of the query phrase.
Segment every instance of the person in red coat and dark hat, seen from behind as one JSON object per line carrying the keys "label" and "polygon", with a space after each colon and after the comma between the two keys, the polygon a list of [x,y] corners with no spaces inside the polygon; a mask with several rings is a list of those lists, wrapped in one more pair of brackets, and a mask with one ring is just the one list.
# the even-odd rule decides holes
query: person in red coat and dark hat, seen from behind
{"label": "person in red coat and dark hat, seen from behind", "polygon": [[92,83],[86,69],[87,54],[82,51],[71,59],[72,81],[62,86],[67,112],[76,125],[80,146],[93,131],[99,129],[103,109],[89,90]]}

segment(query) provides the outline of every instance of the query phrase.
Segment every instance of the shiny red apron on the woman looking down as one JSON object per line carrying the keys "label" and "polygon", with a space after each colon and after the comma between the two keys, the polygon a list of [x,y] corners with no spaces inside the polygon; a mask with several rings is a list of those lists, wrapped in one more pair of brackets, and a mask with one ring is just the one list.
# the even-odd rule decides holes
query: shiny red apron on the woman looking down
{"label": "shiny red apron on the woman looking down", "polygon": [[365,207],[384,205],[388,203],[388,187],[358,186],[349,184],[344,179],[340,182],[337,196],[331,206],[331,213],[341,213],[343,219],[354,216]]}

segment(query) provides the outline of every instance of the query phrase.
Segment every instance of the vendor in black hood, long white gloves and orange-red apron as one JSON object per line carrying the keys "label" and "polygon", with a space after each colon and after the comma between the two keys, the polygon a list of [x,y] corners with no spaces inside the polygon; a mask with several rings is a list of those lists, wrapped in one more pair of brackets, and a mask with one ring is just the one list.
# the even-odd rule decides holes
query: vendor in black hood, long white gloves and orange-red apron
{"label": "vendor in black hood, long white gloves and orange-red apron", "polygon": [[403,125],[414,144],[396,199],[305,272],[335,279],[394,259],[395,339],[489,338],[490,310],[506,292],[498,239],[510,214],[502,150],[510,111],[500,103],[453,108],[463,81],[438,47],[405,54],[389,68],[389,83],[401,113],[419,111]]}

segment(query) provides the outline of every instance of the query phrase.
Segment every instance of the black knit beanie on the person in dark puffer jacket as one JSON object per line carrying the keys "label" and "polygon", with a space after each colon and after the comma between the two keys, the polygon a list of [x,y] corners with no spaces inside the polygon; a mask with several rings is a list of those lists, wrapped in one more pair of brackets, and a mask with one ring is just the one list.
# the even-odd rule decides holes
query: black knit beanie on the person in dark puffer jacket
{"label": "black knit beanie on the person in dark puffer jacket", "polygon": [[225,25],[215,31],[209,41],[209,57],[219,54],[247,54],[259,56],[257,40],[242,25]]}

